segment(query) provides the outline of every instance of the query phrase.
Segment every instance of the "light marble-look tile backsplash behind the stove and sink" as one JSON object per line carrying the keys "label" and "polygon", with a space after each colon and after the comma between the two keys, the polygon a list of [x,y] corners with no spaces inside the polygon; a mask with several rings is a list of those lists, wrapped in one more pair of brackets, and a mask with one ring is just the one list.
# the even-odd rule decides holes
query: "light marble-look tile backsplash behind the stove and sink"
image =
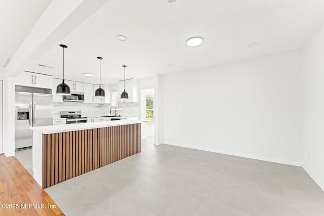
{"label": "light marble-look tile backsplash behind the stove and sink", "polygon": [[[81,111],[84,117],[100,117],[109,115],[110,104],[85,104],[80,102],[53,103],[53,118],[60,118],[61,111]],[[117,114],[124,117],[140,117],[140,103],[125,103],[123,110]]]}

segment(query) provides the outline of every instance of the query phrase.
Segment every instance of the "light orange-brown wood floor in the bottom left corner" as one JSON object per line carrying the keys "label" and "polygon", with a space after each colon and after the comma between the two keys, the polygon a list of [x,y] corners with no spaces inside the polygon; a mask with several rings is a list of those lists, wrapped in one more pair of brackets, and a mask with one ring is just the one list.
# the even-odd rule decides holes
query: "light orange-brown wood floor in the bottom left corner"
{"label": "light orange-brown wood floor in the bottom left corner", "polygon": [[[0,215],[65,215],[21,163],[14,156],[4,154],[0,154],[0,203]],[[4,208],[4,204],[11,208]],[[19,208],[9,206],[13,204],[18,204]],[[28,208],[21,208],[21,204]],[[48,208],[49,204],[56,208]]]}

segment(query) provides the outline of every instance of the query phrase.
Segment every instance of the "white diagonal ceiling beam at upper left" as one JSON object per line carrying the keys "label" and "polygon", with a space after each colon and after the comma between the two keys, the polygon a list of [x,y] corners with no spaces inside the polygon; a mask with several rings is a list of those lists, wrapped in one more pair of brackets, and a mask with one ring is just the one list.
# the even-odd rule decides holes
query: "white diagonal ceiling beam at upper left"
{"label": "white diagonal ceiling beam at upper left", "polygon": [[109,1],[52,1],[7,65],[7,76],[15,77],[34,64]]}

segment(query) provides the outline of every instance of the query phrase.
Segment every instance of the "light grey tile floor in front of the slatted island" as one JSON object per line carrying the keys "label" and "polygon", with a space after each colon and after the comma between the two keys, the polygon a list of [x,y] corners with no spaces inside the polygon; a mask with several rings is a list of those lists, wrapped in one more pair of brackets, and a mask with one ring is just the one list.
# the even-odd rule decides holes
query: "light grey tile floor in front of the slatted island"
{"label": "light grey tile floor in front of the slatted island", "polygon": [[66,215],[324,215],[301,167],[152,143],[46,192]]}

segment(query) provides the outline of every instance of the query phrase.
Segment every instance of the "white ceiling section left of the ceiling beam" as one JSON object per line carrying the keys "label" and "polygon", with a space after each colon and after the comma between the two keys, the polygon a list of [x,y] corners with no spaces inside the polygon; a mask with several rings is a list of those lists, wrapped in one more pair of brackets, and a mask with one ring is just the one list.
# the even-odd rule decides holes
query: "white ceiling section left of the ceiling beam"
{"label": "white ceiling section left of the ceiling beam", "polygon": [[0,57],[11,58],[52,0],[0,0]]}

